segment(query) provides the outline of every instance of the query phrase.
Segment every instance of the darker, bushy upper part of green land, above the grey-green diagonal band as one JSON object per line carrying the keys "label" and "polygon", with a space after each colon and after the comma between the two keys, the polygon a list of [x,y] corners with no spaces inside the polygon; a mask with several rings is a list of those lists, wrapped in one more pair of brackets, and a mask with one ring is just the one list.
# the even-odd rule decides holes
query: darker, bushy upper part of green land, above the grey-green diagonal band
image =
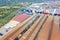
{"label": "darker, bushy upper part of green land, above the grey-green diagonal band", "polygon": [[0,8],[0,19],[3,19],[10,15],[12,12],[18,10],[17,8],[10,8],[10,9],[5,9],[5,8]]}

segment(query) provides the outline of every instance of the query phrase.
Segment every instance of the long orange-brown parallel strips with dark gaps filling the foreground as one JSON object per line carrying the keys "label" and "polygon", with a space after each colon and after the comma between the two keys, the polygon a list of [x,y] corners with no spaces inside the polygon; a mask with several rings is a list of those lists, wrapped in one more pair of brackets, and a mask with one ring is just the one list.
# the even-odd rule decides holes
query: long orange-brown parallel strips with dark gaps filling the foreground
{"label": "long orange-brown parallel strips with dark gaps filling the foreground", "polygon": [[60,40],[59,19],[51,15],[33,15],[0,40]]}

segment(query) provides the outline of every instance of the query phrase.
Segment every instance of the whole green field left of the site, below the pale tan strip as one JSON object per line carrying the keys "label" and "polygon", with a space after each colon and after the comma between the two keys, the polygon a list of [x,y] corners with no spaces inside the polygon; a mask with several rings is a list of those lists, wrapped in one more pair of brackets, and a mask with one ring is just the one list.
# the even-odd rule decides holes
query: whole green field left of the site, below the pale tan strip
{"label": "whole green field left of the site, below the pale tan strip", "polygon": [[23,8],[0,8],[0,27],[8,23]]}

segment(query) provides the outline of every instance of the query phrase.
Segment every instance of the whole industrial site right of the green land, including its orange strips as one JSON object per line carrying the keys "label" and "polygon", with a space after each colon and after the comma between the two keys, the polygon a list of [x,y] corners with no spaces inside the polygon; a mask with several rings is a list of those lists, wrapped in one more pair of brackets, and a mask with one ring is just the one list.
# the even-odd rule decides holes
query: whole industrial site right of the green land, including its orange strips
{"label": "whole industrial site right of the green land, including its orange strips", "polygon": [[33,3],[21,10],[0,28],[0,40],[60,40],[59,5]]}

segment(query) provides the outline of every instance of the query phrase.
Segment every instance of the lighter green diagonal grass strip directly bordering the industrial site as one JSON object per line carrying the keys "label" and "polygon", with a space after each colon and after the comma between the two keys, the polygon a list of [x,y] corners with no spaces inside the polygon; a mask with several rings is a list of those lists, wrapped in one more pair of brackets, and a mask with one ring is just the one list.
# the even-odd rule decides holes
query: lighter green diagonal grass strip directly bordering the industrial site
{"label": "lighter green diagonal grass strip directly bordering the industrial site", "polygon": [[3,19],[0,19],[0,28],[8,23],[19,11],[21,11],[23,8],[20,8],[14,12],[11,12],[8,16],[4,17]]}

